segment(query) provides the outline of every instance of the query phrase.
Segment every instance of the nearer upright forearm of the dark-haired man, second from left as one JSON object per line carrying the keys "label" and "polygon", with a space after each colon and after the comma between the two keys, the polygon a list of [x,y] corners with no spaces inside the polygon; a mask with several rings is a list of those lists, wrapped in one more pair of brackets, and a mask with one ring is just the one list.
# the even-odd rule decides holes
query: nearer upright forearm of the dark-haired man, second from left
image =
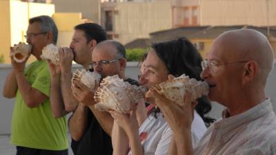
{"label": "nearer upright forearm of the dark-haired man, second from left", "polygon": [[76,109],[79,101],[75,99],[71,89],[71,72],[61,72],[61,93],[63,96],[64,106],[67,112],[71,112]]}

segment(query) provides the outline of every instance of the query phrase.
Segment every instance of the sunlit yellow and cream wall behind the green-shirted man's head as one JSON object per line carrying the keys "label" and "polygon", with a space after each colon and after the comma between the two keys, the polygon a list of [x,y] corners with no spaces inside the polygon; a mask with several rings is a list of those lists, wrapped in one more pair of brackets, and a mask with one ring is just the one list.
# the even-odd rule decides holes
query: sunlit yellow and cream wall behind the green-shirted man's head
{"label": "sunlit yellow and cream wall behind the green-shirted man's head", "polygon": [[[55,6],[46,3],[28,3],[22,1],[0,1],[0,55],[4,56],[4,63],[10,63],[10,46],[15,43],[26,42],[23,35],[28,28],[28,19],[39,15],[52,17]],[[31,56],[28,62],[34,61]]]}

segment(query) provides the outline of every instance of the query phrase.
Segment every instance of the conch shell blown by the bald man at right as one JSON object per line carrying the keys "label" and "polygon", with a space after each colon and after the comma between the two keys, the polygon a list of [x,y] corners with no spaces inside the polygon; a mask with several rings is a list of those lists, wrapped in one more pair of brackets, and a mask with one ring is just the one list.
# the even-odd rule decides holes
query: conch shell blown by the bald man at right
{"label": "conch shell blown by the bald man at right", "polygon": [[185,104],[184,96],[187,92],[189,92],[190,96],[188,96],[186,103],[191,103],[201,96],[207,95],[209,90],[208,83],[190,79],[185,74],[172,79],[172,81],[164,81],[155,87],[157,87],[160,94],[164,94],[167,99],[174,101],[178,105]]}

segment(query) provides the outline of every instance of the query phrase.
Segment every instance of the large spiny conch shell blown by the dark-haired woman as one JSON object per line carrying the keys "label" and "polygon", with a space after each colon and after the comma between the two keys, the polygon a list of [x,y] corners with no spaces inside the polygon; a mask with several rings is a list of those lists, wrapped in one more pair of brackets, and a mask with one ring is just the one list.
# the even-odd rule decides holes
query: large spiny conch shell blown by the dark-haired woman
{"label": "large spiny conch shell blown by the dark-haired woman", "polygon": [[95,92],[94,99],[97,103],[95,107],[100,111],[115,110],[126,114],[132,105],[144,98],[145,93],[145,87],[130,85],[118,75],[107,76]]}

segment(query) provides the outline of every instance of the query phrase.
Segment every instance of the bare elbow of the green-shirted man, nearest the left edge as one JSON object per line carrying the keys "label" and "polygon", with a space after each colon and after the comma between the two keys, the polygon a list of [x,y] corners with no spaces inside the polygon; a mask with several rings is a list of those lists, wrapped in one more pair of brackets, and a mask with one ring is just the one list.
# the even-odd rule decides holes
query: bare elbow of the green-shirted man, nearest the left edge
{"label": "bare elbow of the green-shirted man, nearest the left edge", "polygon": [[10,71],[8,76],[6,77],[6,81],[3,87],[3,96],[11,99],[14,98],[17,94],[17,79],[15,77],[14,70]]}

